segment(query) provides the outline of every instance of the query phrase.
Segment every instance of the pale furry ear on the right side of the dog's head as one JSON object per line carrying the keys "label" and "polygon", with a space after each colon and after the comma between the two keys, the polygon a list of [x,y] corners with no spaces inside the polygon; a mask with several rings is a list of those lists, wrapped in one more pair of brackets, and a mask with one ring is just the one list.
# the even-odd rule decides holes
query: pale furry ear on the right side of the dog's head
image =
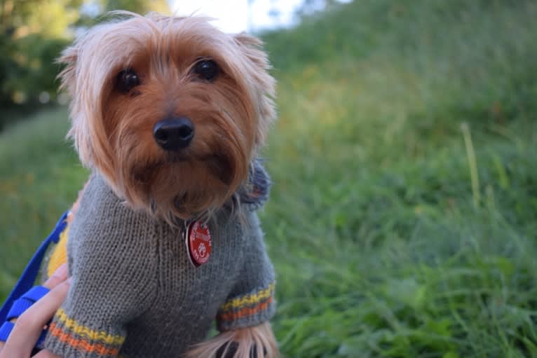
{"label": "pale furry ear on the right side of the dog's head", "polygon": [[254,89],[254,98],[257,101],[259,123],[257,126],[256,144],[261,146],[265,142],[269,125],[276,118],[276,109],[273,98],[276,94],[276,81],[269,74],[271,65],[269,56],[262,49],[263,42],[245,33],[234,36],[240,51],[247,60],[246,69],[250,74],[249,85]]}

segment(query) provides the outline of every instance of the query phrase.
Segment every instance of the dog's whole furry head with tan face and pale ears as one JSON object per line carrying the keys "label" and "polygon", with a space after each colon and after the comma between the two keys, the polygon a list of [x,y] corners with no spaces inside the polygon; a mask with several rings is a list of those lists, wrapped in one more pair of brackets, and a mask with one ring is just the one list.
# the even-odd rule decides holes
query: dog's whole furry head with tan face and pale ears
{"label": "dog's whole furry head with tan face and pale ears", "polygon": [[205,18],[129,16],[60,58],[81,161],[164,218],[220,207],[245,184],[275,116],[266,55]]}

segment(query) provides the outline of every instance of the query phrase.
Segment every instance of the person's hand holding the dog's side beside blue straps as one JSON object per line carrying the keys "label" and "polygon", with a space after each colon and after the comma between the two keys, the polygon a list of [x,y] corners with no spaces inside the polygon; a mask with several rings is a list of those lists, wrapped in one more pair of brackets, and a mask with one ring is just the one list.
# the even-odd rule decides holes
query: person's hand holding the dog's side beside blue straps
{"label": "person's hand holding the dog's side beside blue straps", "polygon": [[[50,318],[67,297],[69,280],[67,264],[60,266],[43,284],[50,289],[48,294],[20,315],[6,343],[0,342],[0,358],[28,358],[34,345]],[[48,350],[41,350],[34,358],[61,358]]]}

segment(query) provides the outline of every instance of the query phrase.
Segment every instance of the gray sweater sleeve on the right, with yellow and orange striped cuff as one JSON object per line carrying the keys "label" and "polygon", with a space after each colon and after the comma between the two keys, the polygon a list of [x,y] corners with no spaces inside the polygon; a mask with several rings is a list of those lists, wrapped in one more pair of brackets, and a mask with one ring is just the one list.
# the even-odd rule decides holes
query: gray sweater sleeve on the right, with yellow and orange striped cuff
{"label": "gray sweater sleeve on the right, with yellow and orange striped cuff", "polygon": [[244,266],[239,280],[217,313],[217,329],[257,326],[271,319],[276,309],[275,274],[265,250],[259,219],[247,213]]}

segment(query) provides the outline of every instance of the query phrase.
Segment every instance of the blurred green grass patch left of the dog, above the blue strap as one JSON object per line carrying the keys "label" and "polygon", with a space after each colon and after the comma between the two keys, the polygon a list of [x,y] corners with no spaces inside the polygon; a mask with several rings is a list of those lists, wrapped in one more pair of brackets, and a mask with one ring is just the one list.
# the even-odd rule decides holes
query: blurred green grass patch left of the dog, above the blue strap
{"label": "blurred green grass patch left of the dog, above the blue strap", "polygon": [[60,109],[0,132],[0,301],[87,178],[64,140],[67,125]]}

